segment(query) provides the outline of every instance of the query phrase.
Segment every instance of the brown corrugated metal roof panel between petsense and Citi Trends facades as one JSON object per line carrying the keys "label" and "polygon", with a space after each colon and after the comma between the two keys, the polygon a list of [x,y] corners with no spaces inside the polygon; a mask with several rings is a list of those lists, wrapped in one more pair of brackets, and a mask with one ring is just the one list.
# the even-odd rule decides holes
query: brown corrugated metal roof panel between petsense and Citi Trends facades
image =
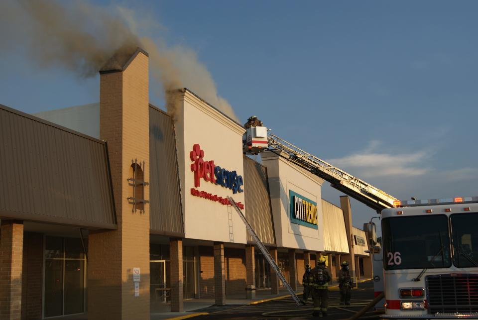
{"label": "brown corrugated metal roof panel between petsense and Citi Trends facades", "polygon": [[[267,168],[246,156],[244,156],[244,202],[245,217],[259,239],[266,244],[276,244]],[[253,241],[249,234],[247,241]]]}

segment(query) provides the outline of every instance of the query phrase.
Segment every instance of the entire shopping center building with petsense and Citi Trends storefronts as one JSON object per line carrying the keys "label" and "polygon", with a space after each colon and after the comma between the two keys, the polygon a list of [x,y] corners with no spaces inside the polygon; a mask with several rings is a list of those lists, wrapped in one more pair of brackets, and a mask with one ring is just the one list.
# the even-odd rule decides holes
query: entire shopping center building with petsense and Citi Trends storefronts
{"label": "entire shopping center building with petsense and Citi Trends storefronts", "polygon": [[244,127],[188,89],[149,104],[148,54],[108,64],[100,103],[36,116],[0,105],[0,318],[149,319],[186,299],[278,294],[232,197],[291,287],[306,264],[370,278],[347,196],[280,154],[242,153]]}

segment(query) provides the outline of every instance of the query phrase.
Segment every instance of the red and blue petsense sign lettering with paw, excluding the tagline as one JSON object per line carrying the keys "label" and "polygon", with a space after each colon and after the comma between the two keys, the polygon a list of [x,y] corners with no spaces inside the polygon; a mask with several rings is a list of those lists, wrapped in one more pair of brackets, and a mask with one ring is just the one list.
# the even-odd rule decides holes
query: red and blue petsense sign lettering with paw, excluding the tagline
{"label": "red and blue petsense sign lettering with paw, excluding the tagline", "polygon": [[201,179],[206,182],[221,185],[224,188],[231,189],[233,194],[244,192],[241,186],[244,184],[242,176],[238,176],[236,171],[228,171],[214,164],[214,160],[205,161],[204,150],[198,143],[193,145],[193,150],[189,153],[191,161],[191,171],[194,172],[194,187],[201,185]]}

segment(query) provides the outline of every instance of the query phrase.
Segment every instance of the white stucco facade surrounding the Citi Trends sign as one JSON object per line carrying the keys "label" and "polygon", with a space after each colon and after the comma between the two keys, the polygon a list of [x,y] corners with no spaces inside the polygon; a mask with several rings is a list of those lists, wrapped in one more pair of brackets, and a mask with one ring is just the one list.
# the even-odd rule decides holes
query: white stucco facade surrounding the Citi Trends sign
{"label": "white stucco facade surrounding the Citi Trends sign", "polygon": [[[277,246],[324,251],[321,178],[312,175],[272,152],[261,154],[267,167]],[[291,193],[292,192],[292,193]],[[317,206],[317,226],[303,225],[291,218],[291,195],[298,194]],[[292,213],[294,214],[294,213]],[[307,224],[307,223],[305,223]]]}

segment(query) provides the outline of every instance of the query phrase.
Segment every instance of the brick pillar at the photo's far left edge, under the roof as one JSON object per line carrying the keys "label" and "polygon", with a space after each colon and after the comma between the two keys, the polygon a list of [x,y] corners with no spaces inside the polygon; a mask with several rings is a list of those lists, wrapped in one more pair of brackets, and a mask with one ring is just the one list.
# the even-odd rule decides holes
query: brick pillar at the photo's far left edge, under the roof
{"label": "brick pillar at the photo's far left edge, under the roof", "polygon": [[0,319],[21,318],[23,221],[1,220]]}

